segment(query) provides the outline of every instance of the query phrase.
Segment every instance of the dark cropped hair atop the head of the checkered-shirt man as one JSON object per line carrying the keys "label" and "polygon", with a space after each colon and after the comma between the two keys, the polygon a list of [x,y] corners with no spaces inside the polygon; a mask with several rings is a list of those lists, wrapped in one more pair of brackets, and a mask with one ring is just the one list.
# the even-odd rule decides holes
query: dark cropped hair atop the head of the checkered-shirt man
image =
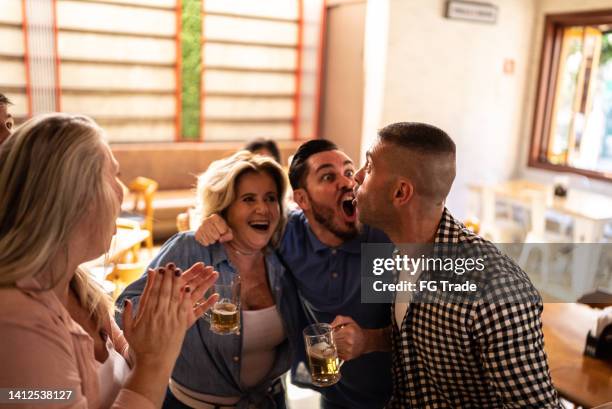
{"label": "dark cropped hair atop the head of the checkered-shirt man", "polygon": [[382,142],[392,143],[421,153],[456,152],[455,142],[446,132],[419,122],[397,122],[378,131]]}

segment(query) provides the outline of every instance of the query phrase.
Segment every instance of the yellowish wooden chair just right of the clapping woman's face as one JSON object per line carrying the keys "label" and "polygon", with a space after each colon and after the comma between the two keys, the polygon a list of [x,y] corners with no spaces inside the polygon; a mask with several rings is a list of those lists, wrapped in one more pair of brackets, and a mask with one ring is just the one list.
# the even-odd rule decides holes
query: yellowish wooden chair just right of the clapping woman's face
{"label": "yellowish wooden chair just right of the clapping woman's face", "polygon": [[130,194],[134,199],[132,209],[121,213],[121,218],[136,221],[151,234],[146,239],[147,248],[153,248],[153,197],[157,191],[158,183],[153,179],[139,176],[128,185]]}

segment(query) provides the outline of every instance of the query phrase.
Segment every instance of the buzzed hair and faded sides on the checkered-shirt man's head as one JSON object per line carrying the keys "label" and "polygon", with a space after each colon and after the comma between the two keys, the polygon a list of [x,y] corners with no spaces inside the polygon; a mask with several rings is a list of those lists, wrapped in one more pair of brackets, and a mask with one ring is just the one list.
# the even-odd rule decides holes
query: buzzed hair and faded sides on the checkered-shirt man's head
{"label": "buzzed hair and faded sides on the checkered-shirt man's head", "polygon": [[378,132],[381,153],[397,176],[409,179],[422,199],[444,202],[455,179],[455,143],[439,128],[398,122]]}

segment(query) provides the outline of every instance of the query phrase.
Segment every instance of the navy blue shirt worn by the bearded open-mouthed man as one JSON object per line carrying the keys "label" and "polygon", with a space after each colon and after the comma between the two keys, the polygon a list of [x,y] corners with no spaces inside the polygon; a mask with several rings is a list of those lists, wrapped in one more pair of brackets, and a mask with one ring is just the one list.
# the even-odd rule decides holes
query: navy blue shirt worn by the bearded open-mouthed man
{"label": "navy blue shirt worn by the bearded open-mouthed man", "polygon": [[[313,321],[331,323],[337,315],[353,318],[362,328],[383,328],[390,325],[390,304],[361,303],[361,244],[389,243],[379,230],[364,226],[361,234],[339,247],[331,248],[314,235],[301,211],[289,214],[280,246],[280,256],[295,278],[309,316],[302,328]],[[296,343],[303,341],[301,332]],[[299,376],[305,350],[297,349],[293,364],[293,380],[303,384]],[[391,396],[391,354],[374,352],[346,362],[342,378],[336,385],[319,388],[326,401],[351,409],[376,409],[385,406]]]}

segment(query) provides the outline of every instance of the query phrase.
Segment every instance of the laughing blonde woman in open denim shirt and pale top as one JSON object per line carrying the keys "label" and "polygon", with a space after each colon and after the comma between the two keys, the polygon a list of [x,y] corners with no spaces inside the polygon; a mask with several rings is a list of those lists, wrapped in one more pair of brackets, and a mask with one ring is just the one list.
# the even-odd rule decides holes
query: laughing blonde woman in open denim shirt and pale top
{"label": "laughing blonde woman in open denim shirt and pale top", "polygon": [[[287,334],[300,322],[295,287],[272,246],[284,225],[286,176],[272,159],[241,151],[216,161],[198,179],[199,214],[220,214],[233,231],[226,243],[202,246],[193,232],[172,237],[150,268],[201,261],[229,284],[240,272],[241,329],[221,336],[200,319],[187,333],[164,408],[285,408],[280,381],[294,345]],[[144,278],[119,298],[135,300]],[[163,341],[161,341],[163,342]]]}

